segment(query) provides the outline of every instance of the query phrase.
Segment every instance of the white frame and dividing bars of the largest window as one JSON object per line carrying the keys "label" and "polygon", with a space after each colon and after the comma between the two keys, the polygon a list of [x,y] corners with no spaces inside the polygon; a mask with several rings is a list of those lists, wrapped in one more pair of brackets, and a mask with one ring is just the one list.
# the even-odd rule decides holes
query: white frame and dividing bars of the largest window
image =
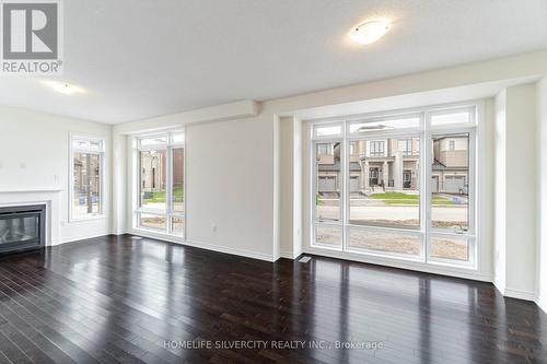
{"label": "white frame and dividing bars of the largest window", "polygon": [[[309,143],[309,161],[310,161],[310,179],[309,179],[309,191],[311,192],[309,203],[306,203],[307,213],[310,213],[310,224],[307,231],[307,238],[305,239],[305,249],[310,253],[321,254],[323,248],[327,248],[330,250],[338,250],[340,254],[349,254],[350,256],[369,256],[379,258],[384,261],[389,260],[405,260],[405,261],[415,261],[420,267],[439,267],[440,270],[446,269],[449,271],[476,271],[478,272],[481,267],[482,255],[481,255],[481,235],[482,232],[479,230],[479,198],[478,195],[479,188],[482,191],[482,177],[481,174],[478,173],[478,168],[480,166],[480,162],[478,160],[479,154],[482,152],[479,151],[478,143],[481,133],[481,124],[478,122],[479,117],[482,117],[482,101],[470,101],[463,103],[454,103],[449,105],[432,105],[424,106],[420,108],[409,108],[404,110],[394,110],[394,111],[384,111],[384,113],[374,113],[369,115],[357,115],[357,116],[346,116],[346,117],[336,117],[328,119],[318,119],[318,120],[306,120],[306,125],[309,126],[307,133],[307,143]],[[458,124],[445,124],[445,125],[431,125],[431,117],[441,115],[441,114],[452,114],[458,111],[469,111],[469,122],[458,122]],[[397,118],[406,119],[411,117],[420,117],[420,122],[418,127],[412,128],[394,128],[389,130],[381,130],[381,131],[369,131],[369,132],[350,132],[350,127],[356,122],[363,122],[364,120],[370,121],[379,121],[379,120],[394,120]],[[315,128],[323,125],[334,125],[340,124],[342,125],[342,134],[337,136],[336,138],[326,138],[316,137]],[[440,133],[449,133],[449,132],[457,132],[457,133],[469,133],[469,142],[468,142],[468,153],[469,153],[469,166],[468,166],[468,176],[466,181],[468,184],[468,214],[469,214],[469,226],[468,231],[465,234],[454,234],[450,231],[443,230],[432,230],[431,224],[431,184],[430,178],[432,178],[431,164],[429,160],[432,158],[431,154],[431,145],[430,141],[432,140],[433,134]],[[384,226],[373,226],[373,225],[356,225],[351,224],[349,220],[349,202],[350,202],[350,148],[352,141],[356,140],[379,140],[379,139],[404,139],[410,138],[410,156],[419,157],[420,168],[419,168],[419,188],[420,188],[420,228],[409,230],[403,228],[401,232],[410,233],[410,234],[421,234],[421,243],[420,243],[420,257],[418,259],[414,259],[407,255],[400,254],[389,254],[389,253],[379,253],[376,250],[366,250],[366,249],[354,249],[349,247],[349,230],[350,228],[365,228],[365,230],[384,230]],[[414,145],[412,138],[419,138],[419,142]],[[327,225],[325,222],[318,222],[315,219],[315,196],[316,191],[316,173],[315,173],[315,144],[317,142],[326,142],[326,141],[337,141],[340,142],[340,178],[342,179],[342,188],[344,190],[340,193],[340,203],[341,203],[341,220],[336,222],[334,225],[342,226],[342,244],[340,248],[334,248],[331,246],[324,246],[322,244],[317,244],[315,242],[315,226]],[[418,152],[419,151],[419,152]],[[369,152],[369,151],[368,151]],[[419,156],[417,155],[419,154]],[[472,183],[473,181],[473,183]],[[310,207],[313,207],[310,209]],[[328,223],[330,225],[330,222]],[[388,227],[391,232],[398,233],[397,228]],[[451,259],[443,258],[434,258],[431,257],[431,239],[433,236],[453,236],[453,237],[466,237],[468,242],[468,261],[457,261]],[[362,251],[364,250],[364,251]],[[333,253],[334,256],[340,256],[338,253]]]}

